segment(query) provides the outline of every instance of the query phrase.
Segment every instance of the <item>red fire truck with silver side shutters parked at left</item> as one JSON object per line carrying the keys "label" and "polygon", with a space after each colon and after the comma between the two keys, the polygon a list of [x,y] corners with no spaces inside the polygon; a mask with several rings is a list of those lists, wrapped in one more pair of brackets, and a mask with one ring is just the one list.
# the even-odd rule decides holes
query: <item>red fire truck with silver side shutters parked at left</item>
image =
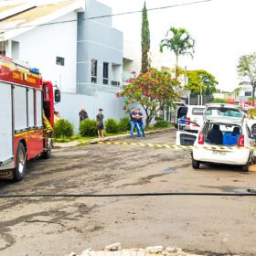
{"label": "red fire truck with silver side shutters parked at left", "polygon": [[28,160],[49,157],[43,120],[53,125],[53,110],[52,83],[38,69],[0,56],[0,178],[20,181]]}

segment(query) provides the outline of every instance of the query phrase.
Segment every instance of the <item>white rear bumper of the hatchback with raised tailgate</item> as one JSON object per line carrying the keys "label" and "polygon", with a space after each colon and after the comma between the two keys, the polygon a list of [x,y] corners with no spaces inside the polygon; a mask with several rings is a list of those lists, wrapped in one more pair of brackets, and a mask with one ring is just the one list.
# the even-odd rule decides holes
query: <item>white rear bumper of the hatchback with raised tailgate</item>
{"label": "white rear bumper of the hatchback with raised tailgate", "polygon": [[251,160],[250,149],[193,149],[193,158],[199,162],[216,163],[225,165],[247,165]]}

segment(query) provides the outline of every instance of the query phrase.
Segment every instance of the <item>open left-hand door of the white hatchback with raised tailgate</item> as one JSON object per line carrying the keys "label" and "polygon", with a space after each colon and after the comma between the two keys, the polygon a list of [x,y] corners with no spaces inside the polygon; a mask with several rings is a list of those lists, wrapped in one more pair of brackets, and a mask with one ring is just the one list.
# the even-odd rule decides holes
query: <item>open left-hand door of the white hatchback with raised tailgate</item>
{"label": "open left-hand door of the white hatchback with raised tailgate", "polygon": [[[178,122],[182,122],[182,119],[179,119]],[[186,120],[187,121],[187,120]],[[187,121],[187,123],[194,123],[192,121]],[[180,129],[180,125],[178,125],[178,129],[176,130],[176,145],[193,145],[197,140],[197,132],[187,132]]]}

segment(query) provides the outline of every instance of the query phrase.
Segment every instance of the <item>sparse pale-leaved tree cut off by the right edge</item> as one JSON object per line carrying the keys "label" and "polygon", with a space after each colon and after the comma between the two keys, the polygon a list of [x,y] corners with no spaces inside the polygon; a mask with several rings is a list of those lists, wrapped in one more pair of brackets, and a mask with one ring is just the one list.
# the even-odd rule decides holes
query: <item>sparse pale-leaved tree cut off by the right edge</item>
{"label": "sparse pale-leaved tree cut off by the right edge", "polygon": [[[241,56],[237,70],[241,78],[250,81],[252,87],[252,98],[254,99],[256,89],[256,52]],[[252,101],[252,104],[254,106],[254,101]]]}

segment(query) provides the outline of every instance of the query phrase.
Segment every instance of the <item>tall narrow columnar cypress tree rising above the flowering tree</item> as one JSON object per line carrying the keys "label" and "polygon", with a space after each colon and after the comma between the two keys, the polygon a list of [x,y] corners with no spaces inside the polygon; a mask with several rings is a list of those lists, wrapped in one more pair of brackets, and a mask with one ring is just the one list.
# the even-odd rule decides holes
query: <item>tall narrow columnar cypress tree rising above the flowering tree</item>
{"label": "tall narrow columnar cypress tree rising above the flowering tree", "polygon": [[146,73],[150,69],[149,53],[150,50],[150,30],[147,18],[147,9],[144,2],[143,8],[143,24],[142,24],[142,73]]}

